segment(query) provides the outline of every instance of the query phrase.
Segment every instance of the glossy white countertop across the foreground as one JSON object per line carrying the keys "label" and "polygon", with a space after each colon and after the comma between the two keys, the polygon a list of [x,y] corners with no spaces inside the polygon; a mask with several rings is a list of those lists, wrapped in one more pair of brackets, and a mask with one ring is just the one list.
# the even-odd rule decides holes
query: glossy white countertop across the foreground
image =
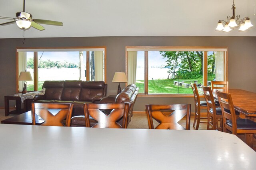
{"label": "glossy white countertop across the foreground", "polygon": [[256,152],[214,130],[0,124],[0,169],[256,169]]}

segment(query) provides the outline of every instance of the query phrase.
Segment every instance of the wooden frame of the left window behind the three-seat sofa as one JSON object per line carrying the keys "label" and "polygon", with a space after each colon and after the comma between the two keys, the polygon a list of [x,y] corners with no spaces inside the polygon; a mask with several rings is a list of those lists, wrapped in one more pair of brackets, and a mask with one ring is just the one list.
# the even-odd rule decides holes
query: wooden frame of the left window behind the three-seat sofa
{"label": "wooden frame of the left window behind the three-seat sofa", "polygon": [[[78,46],[78,47],[16,47],[16,93],[19,93],[18,89],[18,77],[19,77],[19,68],[18,68],[18,52],[34,52],[34,62],[35,56],[37,56],[38,51],[86,51],[87,56],[90,51],[104,51],[104,82],[107,82],[106,79],[106,46]],[[86,57],[86,68],[88,67],[88,57]],[[37,60],[37,59],[36,59]],[[35,63],[34,63],[35,64]],[[86,71],[86,81],[88,81],[89,72]],[[38,62],[34,65],[34,91],[38,91]]]}

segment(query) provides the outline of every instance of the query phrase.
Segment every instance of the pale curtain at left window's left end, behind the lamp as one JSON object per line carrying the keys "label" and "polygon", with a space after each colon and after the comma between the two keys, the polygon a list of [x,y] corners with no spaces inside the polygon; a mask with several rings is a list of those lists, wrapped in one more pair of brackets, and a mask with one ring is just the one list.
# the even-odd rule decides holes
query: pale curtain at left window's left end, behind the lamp
{"label": "pale curtain at left window's left end, behind the lamp", "polygon": [[[21,71],[27,70],[27,53],[26,52],[18,52],[18,76]],[[22,92],[25,81],[18,81],[19,92]]]}

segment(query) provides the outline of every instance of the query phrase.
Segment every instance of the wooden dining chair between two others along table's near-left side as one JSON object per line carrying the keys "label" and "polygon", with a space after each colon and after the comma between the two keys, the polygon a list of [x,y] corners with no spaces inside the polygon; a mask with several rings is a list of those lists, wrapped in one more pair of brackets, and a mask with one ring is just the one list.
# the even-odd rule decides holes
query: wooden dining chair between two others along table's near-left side
{"label": "wooden dining chair between two others along table's near-left side", "polygon": [[222,131],[222,112],[220,105],[214,100],[211,87],[202,86],[202,88],[207,104],[207,130]]}

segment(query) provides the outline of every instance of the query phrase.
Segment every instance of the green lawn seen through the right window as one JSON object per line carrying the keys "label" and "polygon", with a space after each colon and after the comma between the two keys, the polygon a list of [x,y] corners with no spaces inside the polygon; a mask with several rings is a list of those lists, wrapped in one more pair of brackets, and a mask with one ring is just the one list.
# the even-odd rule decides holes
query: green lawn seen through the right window
{"label": "green lawn seen through the right window", "polygon": [[[198,84],[202,83],[202,79],[196,79],[196,80],[198,80]],[[173,85],[173,81],[177,81],[177,80],[172,80],[172,79],[148,80],[148,93],[149,94],[177,94],[178,86]],[[190,83],[190,82],[187,82],[187,83]],[[140,93],[144,93],[144,80],[136,80],[136,86],[140,88],[140,91],[139,91]],[[193,91],[191,87],[185,88],[185,87],[179,86],[179,94],[193,94]]]}

